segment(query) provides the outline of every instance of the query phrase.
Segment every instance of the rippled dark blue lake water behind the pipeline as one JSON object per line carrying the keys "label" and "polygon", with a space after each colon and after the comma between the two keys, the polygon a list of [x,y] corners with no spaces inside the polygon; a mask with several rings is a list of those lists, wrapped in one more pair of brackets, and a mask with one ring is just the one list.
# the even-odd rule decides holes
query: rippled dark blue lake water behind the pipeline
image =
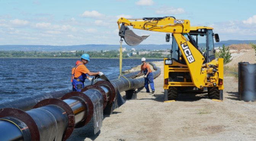
{"label": "rippled dark blue lake water behind the pipeline", "polygon": [[[77,59],[0,59],[0,103],[45,92],[72,89],[71,69]],[[162,61],[148,59],[147,62]],[[141,64],[140,59],[123,59],[122,71]],[[119,75],[119,59],[91,59],[86,64],[91,72],[107,77]],[[85,85],[89,81],[86,80]]]}

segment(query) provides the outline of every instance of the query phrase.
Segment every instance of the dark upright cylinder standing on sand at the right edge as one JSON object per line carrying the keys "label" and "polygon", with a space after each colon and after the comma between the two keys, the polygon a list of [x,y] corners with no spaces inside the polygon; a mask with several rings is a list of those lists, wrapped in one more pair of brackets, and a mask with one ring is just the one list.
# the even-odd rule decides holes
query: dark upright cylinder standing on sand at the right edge
{"label": "dark upright cylinder standing on sand at the right edge", "polygon": [[256,99],[256,64],[238,63],[238,94],[240,100]]}

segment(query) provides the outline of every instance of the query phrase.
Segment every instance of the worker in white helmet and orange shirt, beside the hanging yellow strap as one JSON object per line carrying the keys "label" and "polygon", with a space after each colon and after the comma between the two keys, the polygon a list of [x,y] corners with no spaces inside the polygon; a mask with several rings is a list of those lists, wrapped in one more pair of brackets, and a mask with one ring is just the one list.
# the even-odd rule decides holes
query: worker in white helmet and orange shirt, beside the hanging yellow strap
{"label": "worker in white helmet and orange shirt, beside the hanging yellow strap", "polygon": [[150,69],[150,66],[148,63],[146,63],[146,58],[141,58],[141,62],[142,62],[142,65],[141,65],[141,72],[139,72],[139,74],[136,75],[139,76],[142,71],[144,72],[144,79],[145,79],[145,83],[144,83],[144,86],[146,88],[146,92],[150,92],[149,91],[149,84],[150,84],[150,88],[152,90],[152,93],[155,92],[155,87],[154,87],[154,77],[153,77],[153,74],[152,74],[152,70]]}

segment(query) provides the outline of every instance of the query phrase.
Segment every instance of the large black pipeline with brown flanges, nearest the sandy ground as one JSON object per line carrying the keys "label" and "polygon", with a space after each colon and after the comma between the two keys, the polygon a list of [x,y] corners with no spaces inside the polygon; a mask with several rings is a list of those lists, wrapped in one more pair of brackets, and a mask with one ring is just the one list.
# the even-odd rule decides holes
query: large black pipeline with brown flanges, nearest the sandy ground
{"label": "large black pipeline with brown flanges, nearest the sandy ground", "polygon": [[[160,69],[155,66],[154,69],[157,69],[153,72],[155,78],[160,75]],[[120,78],[111,83],[98,81],[82,92],[69,92],[61,99],[42,100],[26,112],[16,108],[0,109],[1,140],[66,140],[74,128],[83,127],[91,119],[96,133],[102,126],[103,113],[111,114],[114,105],[122,105],[118,100],[119,91],[142,86],[144,78]]]}

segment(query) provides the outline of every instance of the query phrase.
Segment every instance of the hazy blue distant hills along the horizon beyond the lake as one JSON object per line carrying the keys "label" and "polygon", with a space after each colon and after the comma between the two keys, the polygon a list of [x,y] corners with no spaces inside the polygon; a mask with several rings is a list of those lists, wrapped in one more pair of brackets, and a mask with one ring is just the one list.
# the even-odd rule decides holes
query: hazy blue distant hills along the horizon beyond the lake
{"label": "hazy blue distant hills along the horizon beyond the lake", "polygon": [[[223,44],[228,46],[231,44],[249,44],[250,42],[256,44],[256,40],[228,40],[220,41],[215,43],[215,47],[222,46]],[[106,45],[106,44],[88,44],[88,45],[68,45],[68,46],[54,46],[54,45],[0,45],[0,51],[44,51],[44,52],[53,52],[53,51],[73,51],[73,50],[85,50],[85,51],[100,51],[100,50],[117,50],[120,45]],[[170,49],[170,44],[140,44],[137,46],[123,45],[126,49],[134,48],[138,49],[149,49],[149,50],[161,50],[161,49]]]}

